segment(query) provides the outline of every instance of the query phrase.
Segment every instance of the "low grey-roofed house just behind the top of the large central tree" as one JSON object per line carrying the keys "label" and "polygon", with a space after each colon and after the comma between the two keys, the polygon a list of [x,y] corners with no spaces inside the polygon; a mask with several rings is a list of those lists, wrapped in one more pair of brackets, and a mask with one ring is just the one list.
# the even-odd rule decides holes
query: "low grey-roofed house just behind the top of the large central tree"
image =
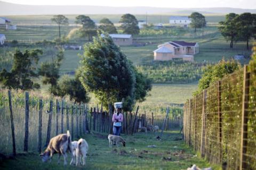
{"label": "low grey-roofed house just behind the top of the large central tree", "polygon": [[[101,34],[101,37],[105,37],[105,35]],[[109,37],[111,37],[118,46],[132,45],[132,35],[130,34],[109,34]]]}

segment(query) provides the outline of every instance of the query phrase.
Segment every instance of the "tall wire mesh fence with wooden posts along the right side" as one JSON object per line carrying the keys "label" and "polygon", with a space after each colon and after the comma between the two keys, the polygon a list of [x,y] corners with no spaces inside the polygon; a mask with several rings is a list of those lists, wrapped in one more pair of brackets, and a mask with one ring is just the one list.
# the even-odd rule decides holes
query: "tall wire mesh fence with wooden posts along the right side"
{"label": "tall wire mesh fence with wooden posts along the right side", "polygon": [[256,169],[256,68],[247,69],[245,65],[216,82],[184,106],[186,143],[222,169]]}

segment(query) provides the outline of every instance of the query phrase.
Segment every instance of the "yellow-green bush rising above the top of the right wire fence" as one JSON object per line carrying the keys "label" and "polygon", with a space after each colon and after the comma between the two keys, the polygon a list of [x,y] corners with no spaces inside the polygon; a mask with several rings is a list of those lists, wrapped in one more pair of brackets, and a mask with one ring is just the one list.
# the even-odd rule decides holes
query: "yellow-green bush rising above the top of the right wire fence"
{"label": "yellow-green bush rising above the top of the right wire fence", "polygon": [[208,88],[215,81],[218,81],[221,78],[225,77],[225,75],[231,74],[240,68],[241,65],[234,60],[225,61],[222,59],[217,64],[207,65],[206,67],[204,67],[204,73],[202,75],[202,78],[199,80],[198,89],[194,92],[194,95]]}

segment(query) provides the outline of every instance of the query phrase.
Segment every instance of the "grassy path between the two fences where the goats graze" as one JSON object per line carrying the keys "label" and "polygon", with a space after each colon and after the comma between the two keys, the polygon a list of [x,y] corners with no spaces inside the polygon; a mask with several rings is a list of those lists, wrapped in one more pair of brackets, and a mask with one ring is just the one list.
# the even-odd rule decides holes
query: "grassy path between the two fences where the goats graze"
{"label": "grassy path between the two fences where the goats graze", "polygon": [[[86,166],[63,166],[57,164],[58,155],[53,156],[51,163],[42,163],[38,154],[21,155],[14,160],[0,162],[1,169],[187,169],[196,164],[198,167],[210,167],[200,159],[182,140],[179,131],[164,132],[162,140],[157,141],[153,132],[137,133],[133,136],[123,135],[126,147],[108,147],[107,134],[87,134],[89,144]],[[159,135],[159,134],[158,134]],[[175,141],[176,140],[176,141]],[[156,145],[156,148],[148,148]],[[70,156],[68,157],[70,161]],[[212,165],[212,168],[220,169]]]}

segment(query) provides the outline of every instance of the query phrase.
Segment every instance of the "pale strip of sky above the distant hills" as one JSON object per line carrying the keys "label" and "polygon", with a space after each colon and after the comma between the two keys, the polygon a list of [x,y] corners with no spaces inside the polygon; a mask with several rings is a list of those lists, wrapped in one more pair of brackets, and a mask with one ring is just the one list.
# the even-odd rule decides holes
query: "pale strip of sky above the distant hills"
{"label": "pale strip of sky above the distant hills", "polygon": [[256,0],[0,0],[27,5],[95,5],[95,6],[152,6],[152,7],[234,7],[256,8]]}

